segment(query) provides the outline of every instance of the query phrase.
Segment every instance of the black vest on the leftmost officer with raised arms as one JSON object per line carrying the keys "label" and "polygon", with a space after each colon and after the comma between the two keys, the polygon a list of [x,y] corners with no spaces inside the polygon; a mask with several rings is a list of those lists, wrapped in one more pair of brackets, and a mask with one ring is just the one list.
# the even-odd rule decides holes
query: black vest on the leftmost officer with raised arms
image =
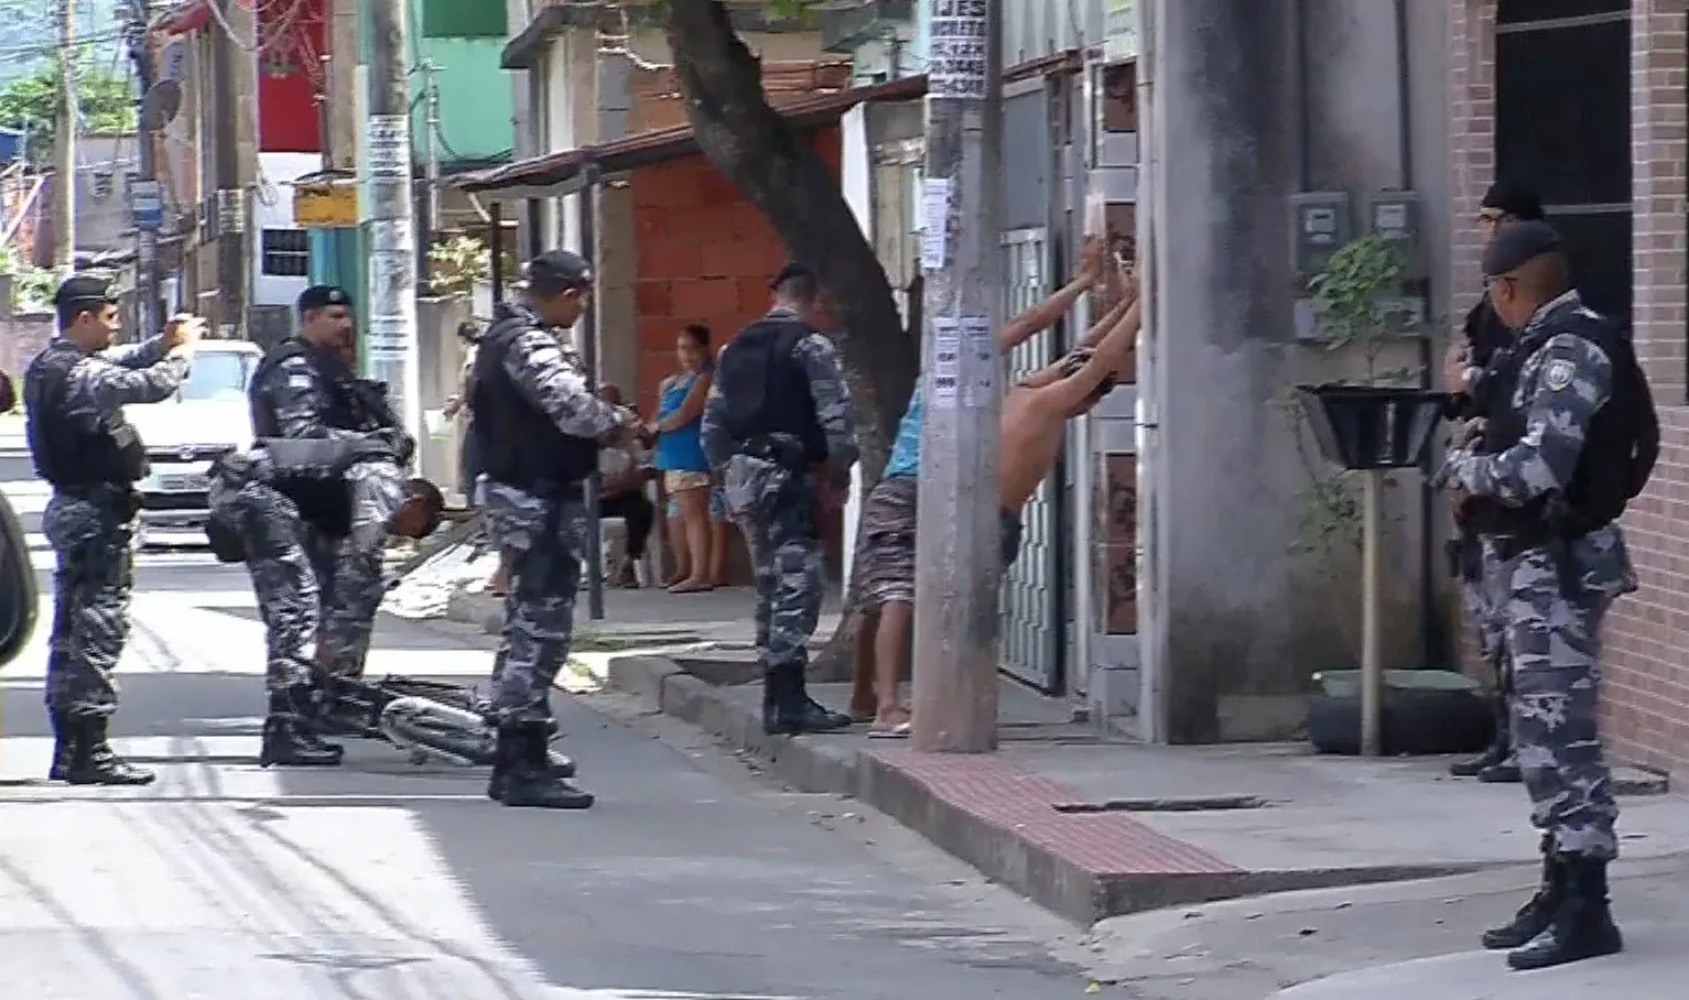
{"label": "black vest on the leftmost officer with raised arms", "polygon": [[35,475],[66,490],[140,481],[147,478],[147,448],[122,409],[96,416],[96,429],[78,426],[68,412],[71,368],[83,358],[76,345],[57,340],[24,377]]}

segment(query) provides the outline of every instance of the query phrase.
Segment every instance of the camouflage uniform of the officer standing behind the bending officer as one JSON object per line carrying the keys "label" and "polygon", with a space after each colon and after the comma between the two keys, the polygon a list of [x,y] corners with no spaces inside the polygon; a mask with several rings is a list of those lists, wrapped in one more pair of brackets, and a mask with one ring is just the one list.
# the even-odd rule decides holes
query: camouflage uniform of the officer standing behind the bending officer
{"label": "camouflage uniform of the officer standing behind the bending officer", "polygon": [[[338,363],[338,361],[336,361]],[[350,372],[345,373],[350,377]],[[360,429],[331,427],[324,422],[328,412],[329,377],[312,355],[284,358],[270,368],[258,392],[269,400],[282,438],[363,439],[375,431],[375,421]],[[328,669],[338,676],[358,676],[368,655],[375,615],[382,606],[382,551],[363,551],[348,539],[328,537],[309,524],[304,525],[306,552],[316,571],[321,608],[321,655]]]}

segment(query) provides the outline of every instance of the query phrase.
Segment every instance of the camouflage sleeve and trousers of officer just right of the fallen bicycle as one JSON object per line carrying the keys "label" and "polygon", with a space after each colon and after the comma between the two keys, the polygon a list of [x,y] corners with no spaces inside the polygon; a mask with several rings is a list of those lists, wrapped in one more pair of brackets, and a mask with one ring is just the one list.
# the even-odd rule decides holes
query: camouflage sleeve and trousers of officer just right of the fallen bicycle
{"label": "camouflage sleeve and trousers of officer just right of the fallen bicycle", "polygon": [[[571,438],[603,438],[622,410],[586,389],[574,350],[534,316],[505,355],[505,375]],[[493,657],[493,709],[503,726],[551,721],[551,686],[569,659],[574,595],[588,530],[581,498],[537,497],[490,480],[486,534],[510,573],[505,628]]]}

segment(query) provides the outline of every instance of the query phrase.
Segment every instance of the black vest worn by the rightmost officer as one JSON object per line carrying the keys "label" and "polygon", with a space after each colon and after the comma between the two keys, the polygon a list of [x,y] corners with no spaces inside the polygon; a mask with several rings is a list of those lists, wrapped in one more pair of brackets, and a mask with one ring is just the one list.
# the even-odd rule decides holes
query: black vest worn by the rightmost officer
{"label": "black vest worn by the rightmost officer", "polygon": [[[1478,449],[1500,454],[1525,436],[1525,414],[1513,407],[1513,394],[1525,360],[1559,333],[1574,333],[1601,348],[1613,367],[1611,395],[1589,419],[1578,468],[1564,495],[1542,497],[1525,507],[1473,498],[1469,514],[1485,534],[1530,535],[1549,520],[1559,522],[1559,534],[1588,534],[1618,520],[1654,473],[1660,454],[1660,424],[1630,331],[1584,309],[1566,309],[1562,319],[1507,351],[1495,365],[1486,395],[1488,421]],[[1562,505],[1564,510],[1551,515],[1551,505]]]}

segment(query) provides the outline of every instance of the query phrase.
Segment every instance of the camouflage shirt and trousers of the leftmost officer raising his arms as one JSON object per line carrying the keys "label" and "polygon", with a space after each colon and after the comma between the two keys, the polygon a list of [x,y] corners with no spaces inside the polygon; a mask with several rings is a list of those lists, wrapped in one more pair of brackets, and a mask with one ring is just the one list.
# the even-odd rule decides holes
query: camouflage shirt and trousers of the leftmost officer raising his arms
{"label": "camouflage shirt and trousers of the leftmost officer raising his arms", "polygon": [[[76,350],[66,340],[47,348]],[[159,338],[88,355],[71,370],[64,409],[32,410],[29,419],[105,426],[127,404],[169,399],[187,377],[187,367],[184,358],[164,358]],[[30,365],[30,375],[34,372]],[[25,395],[30,394],[25,390]],[[128,601],[135,584],[133,519],[128,483],[54,490],[47,500],[42,534],[57,556],[47,639],[47,709],[52,713],[110,716],[117,711],[115,671],[128,639]]]}

